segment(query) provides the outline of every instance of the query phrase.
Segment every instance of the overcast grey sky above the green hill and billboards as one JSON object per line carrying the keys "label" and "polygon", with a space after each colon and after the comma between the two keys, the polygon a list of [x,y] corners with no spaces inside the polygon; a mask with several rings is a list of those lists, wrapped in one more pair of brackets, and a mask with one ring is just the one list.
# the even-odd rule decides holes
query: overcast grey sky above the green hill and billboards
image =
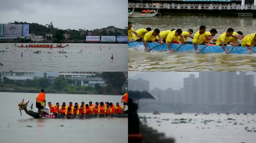
{"label": "overcast grey sky above the green hill and billboards", "polygon": [[127,26],[127,0],[1,0],[0,23],[28,22],[59,29]]}

